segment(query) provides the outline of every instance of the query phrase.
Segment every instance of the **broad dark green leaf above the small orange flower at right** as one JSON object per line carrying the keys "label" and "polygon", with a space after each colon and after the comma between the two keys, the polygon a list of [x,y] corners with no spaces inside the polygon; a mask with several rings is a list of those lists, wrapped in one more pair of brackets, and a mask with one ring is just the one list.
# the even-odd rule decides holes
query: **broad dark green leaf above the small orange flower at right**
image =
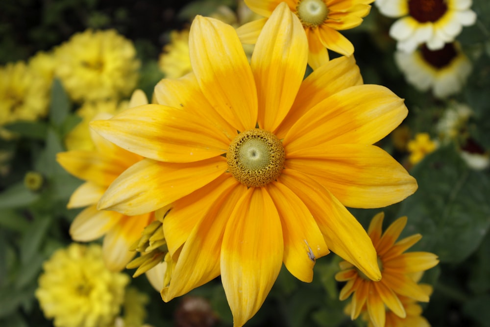
{"label": "broad dark green leaf above the small orange flower at right", "polygon": [[398,216],[408,216],[403,235],[423,238],[411,250],[458,263],[474,252],[490,226],[488,174],[469,169],[453,148],[428,155],[411,171],[417,192],[403,201]]}

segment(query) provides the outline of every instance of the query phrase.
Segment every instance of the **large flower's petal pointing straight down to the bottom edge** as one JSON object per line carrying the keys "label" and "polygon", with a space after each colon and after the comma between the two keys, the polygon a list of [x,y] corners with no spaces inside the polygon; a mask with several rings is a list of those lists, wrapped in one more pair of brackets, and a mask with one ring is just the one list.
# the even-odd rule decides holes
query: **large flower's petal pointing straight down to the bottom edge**
{"label": "large flower's petal pointing straight down to the bottom edge", "polygon": [[277,210],[265,188],[249,188],[233,210],[221,247],[221,280],[243,326],[261,307],[282,265],[284,243]]}

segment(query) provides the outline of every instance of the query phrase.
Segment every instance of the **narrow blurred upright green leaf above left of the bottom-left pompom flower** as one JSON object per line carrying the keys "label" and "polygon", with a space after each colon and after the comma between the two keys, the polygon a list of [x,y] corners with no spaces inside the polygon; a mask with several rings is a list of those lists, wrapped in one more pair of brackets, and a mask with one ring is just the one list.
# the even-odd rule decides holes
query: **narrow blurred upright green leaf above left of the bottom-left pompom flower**
{"label": "narrow blurred upright green leaf above left of the bottom-left pompom flower", "polygon": [[51,220],[50,216],[36,217],[24,235],[22,235],[20,248],[21,262],[23,265],[31,261],[34,255],[37,254],[39,256],[41,244],[51,225]]}

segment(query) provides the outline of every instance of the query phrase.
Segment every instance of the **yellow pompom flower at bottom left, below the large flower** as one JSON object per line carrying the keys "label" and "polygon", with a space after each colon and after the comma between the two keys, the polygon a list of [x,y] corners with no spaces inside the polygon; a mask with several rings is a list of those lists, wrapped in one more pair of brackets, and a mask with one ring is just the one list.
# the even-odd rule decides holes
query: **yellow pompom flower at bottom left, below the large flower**
{"label": "yellow pompom flower at bottom left, below the large flower", "polygon": [[124,299],[129,277],[107,270],[99,245],[72,243],[43,264],[36,298],[57,327],[111,324]]}

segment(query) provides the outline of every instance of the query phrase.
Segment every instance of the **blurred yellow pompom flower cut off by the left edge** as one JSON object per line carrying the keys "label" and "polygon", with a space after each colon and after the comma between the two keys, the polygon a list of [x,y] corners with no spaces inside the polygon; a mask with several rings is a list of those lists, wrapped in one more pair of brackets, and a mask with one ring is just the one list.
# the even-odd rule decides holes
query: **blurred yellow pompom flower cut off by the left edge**
{"label": "blurred yellow pompom flower cut off by the left edge", "polygon": [[0,66],[0,138],[12,137],[2,125],[46,116],[49,87],[50,84],[23,61]]}

